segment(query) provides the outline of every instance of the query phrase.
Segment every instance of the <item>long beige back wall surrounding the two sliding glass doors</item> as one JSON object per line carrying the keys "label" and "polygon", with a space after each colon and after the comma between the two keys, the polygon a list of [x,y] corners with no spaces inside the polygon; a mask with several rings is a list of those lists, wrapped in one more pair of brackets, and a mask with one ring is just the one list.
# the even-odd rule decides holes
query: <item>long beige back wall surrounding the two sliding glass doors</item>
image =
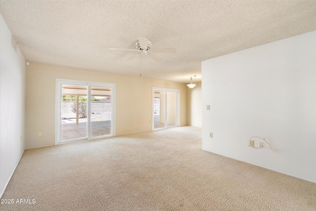
{"label": "long beige back wall surrounding the two sliding glass doors", "polygon": [[180,126],[187,125],[186,84],[31,62],[26,71],[26,149],[55,143],[56,78],[116,84],[116,135],[152,130],[152,87],[180,89]]}

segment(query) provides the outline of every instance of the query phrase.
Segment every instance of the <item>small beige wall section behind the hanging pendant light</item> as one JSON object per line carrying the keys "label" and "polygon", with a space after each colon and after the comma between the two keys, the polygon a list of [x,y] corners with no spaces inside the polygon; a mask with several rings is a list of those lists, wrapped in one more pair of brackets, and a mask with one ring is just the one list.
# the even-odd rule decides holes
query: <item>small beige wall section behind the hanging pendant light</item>
{"label": "small beige wall section behind the hanging pendant light", "polygon": [[187,86],[187,125],[202,127],[202,83],[196,84],[194,88]]}

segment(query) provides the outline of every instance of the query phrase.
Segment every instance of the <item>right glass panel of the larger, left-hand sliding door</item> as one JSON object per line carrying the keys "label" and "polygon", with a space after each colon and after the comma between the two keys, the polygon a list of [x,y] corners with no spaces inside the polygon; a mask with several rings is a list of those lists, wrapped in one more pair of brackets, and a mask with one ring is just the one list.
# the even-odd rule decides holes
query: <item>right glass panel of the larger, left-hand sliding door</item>
{"label": "right glass panel of the larger, left-hand sliding door", "polygon": [[91,137],[111,134],[111,87],[90,87]]}

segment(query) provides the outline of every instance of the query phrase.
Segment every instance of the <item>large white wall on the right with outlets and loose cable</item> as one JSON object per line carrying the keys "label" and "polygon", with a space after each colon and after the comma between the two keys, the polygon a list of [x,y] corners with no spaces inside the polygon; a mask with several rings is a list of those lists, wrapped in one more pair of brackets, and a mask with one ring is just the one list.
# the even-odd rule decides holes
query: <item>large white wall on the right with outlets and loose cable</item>
{"label": "large white wall on the right with outlets and loose cable", "polygon": [[316,31],[203,61],[202,79],[203,150],[316,182]]}

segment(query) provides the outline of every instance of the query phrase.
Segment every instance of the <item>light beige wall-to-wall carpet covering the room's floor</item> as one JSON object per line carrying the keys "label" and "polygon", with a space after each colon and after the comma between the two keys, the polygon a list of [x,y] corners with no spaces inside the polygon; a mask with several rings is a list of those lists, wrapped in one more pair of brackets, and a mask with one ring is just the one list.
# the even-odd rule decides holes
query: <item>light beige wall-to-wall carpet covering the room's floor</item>
{"label": "light beige wall-to-wall carpet covering the room's floor", "polygon": [[173,127],[26,150],[1,211],[315,211],[316,184],[201,150]]}

